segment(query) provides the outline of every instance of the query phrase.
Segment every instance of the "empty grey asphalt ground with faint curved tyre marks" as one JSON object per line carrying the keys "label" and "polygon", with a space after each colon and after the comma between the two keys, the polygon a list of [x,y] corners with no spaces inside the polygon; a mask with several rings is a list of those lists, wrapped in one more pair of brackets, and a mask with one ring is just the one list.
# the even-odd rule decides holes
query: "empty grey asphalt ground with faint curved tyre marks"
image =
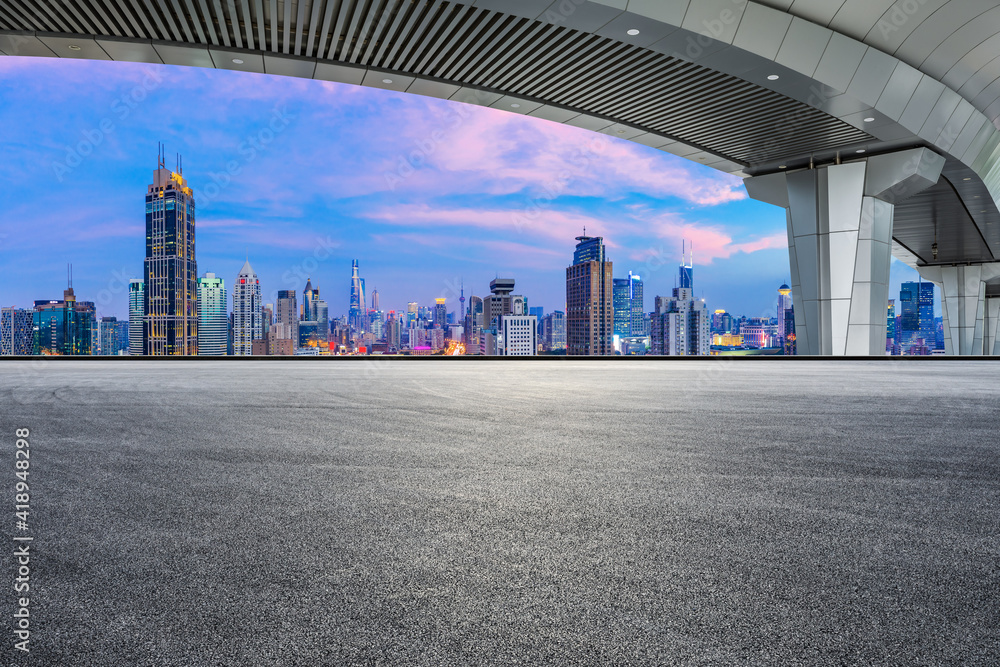
{"label": "empty grey asphalt ground with faint curved tyre marks", "polygon": [[997,362],[7,362],[0,408],[4,664],[1000,663]]}

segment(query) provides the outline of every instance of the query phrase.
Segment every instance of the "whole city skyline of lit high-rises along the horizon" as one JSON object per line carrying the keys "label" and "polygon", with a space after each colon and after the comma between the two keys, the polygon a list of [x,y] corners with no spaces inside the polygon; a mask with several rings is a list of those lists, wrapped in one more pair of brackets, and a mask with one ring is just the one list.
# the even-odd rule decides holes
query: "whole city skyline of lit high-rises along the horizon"
{"label": "whole city skyline of lit high-rises along the horizon", "polygon": [[[30,308],[0,310],[0,354],[73,356],[328,356],[328,355],[794,355],[793,290],[777,287],[773,315],[746,317],[710,310],[694,291],[694,255],[681,241],[676,286],[655,295],[647,311],[641,275],[615,278],[600,236],[575,237],[566,267],[564,310],[546,313],[516,294],[516,277],[486,285],[464,282],[458,296],[433,304],[383,308],[353,259],[350,308],[333,314],[310,277],[301,295],[278,290],[265,303],[249,255],[227,280],[198,274],[195,193],[165,165],[162,147],[145,194],[146,251],[142,278],[128,285],[128,319],[97,312],[77,299],[72,267],[61,300],[38,299]],[[567,239],[567,258],[569,257]],[[334,288],[337,289],[337,288]],[[480,294],[476,295],[479,291]],[[887,355],[943,353],[943,327],[934,317],[931,282],[903,282],[886,307]],[[457,303],[456,303],[457,302]]]}

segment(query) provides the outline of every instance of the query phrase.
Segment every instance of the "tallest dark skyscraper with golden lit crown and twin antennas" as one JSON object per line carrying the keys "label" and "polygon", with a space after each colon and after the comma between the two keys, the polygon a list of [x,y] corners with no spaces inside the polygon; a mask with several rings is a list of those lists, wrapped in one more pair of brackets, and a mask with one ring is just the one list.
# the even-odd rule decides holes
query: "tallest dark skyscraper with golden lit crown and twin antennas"
{"label": "tallest dark skyscraper with golden lit crown and twin antennas", "polygon": [[146,189],[145,354],[198,354],[194,194],[180,172],[161,151]]}

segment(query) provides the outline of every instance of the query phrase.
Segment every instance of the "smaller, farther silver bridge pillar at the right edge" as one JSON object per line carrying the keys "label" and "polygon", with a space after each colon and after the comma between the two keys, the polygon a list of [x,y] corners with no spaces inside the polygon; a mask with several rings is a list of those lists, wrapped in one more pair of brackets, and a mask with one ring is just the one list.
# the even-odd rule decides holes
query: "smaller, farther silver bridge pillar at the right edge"
{"label": "smaller, farther silver bridge pillar at the right edge", "polygon": [[1000,311],[1000,299],[986,298],[986,281],[1000,278],[1000,262],[918,266],[917,272],[941,290],[945,354],[996,354],[1000,313],[992,311]]}

